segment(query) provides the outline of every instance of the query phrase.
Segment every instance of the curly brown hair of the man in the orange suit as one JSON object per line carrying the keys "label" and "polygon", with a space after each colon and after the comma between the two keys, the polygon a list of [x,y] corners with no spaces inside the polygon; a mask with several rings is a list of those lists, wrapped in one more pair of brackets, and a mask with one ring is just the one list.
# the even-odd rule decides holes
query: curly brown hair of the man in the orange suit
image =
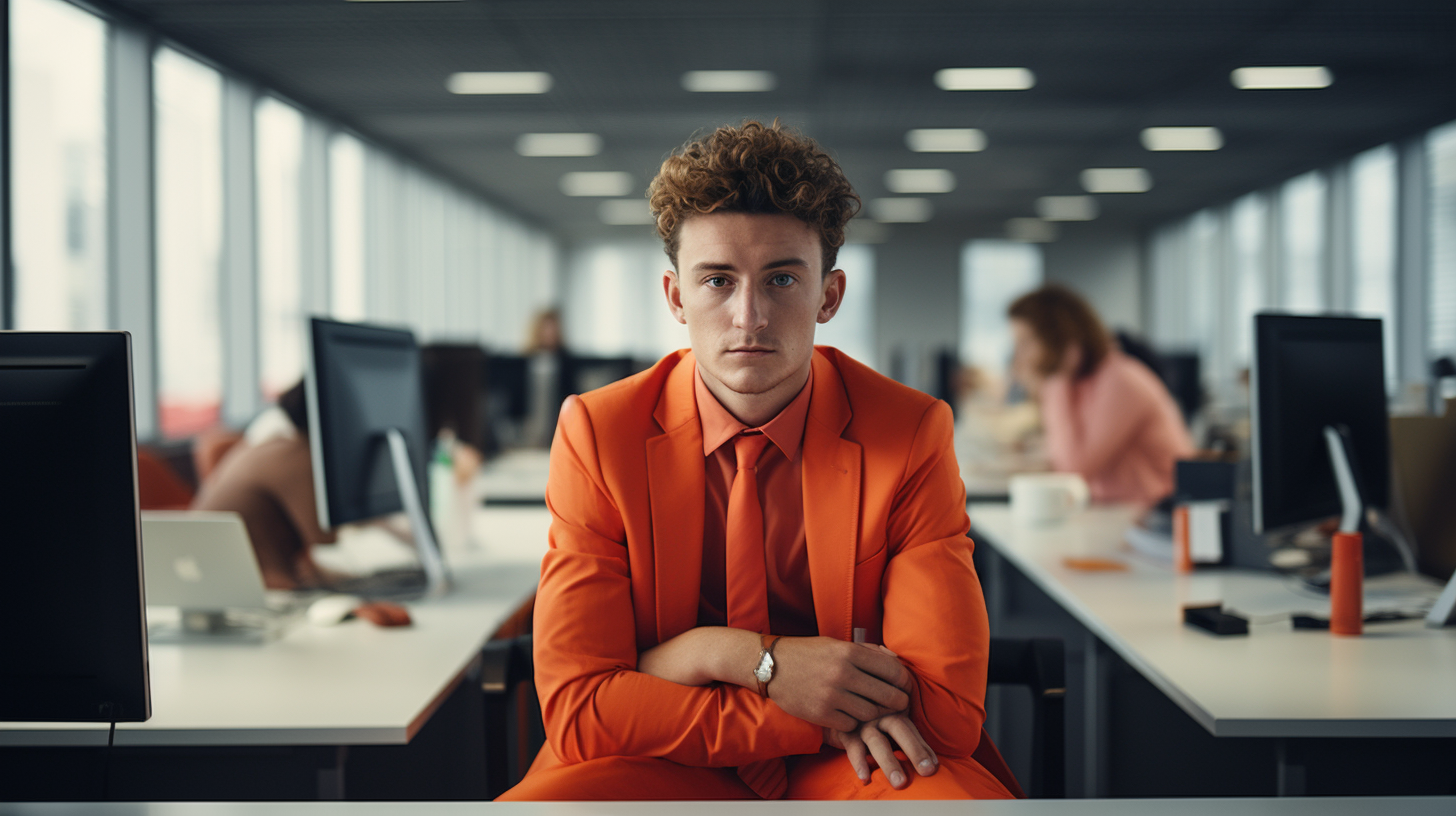
{"label": "curly brown hair of the man in the orange suit", "polygon": [[818,232],[828,272],[860,204],[839,163],[778,119],[725,125],[689,141],[662,162],[646,195],[674,268],[683,221],[695,214],[783,213]]}

